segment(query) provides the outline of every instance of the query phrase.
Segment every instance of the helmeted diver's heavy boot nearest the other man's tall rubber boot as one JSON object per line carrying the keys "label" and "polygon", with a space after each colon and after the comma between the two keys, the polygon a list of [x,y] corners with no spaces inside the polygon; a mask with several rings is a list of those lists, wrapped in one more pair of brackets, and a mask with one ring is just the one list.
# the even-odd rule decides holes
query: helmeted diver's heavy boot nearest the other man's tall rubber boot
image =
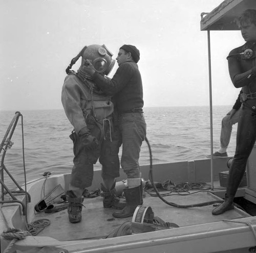
{"label": "helmeted diver's heavy boot nearest the other man's tall rubber boot", "polygon": [[103,208],[123,209],[125,207],[126,203],[120,201],[120,198],[116,195],[115,186],[116,182],[111,189],[108,190],[102,183],[100,184],[100,195],[103,197]]}

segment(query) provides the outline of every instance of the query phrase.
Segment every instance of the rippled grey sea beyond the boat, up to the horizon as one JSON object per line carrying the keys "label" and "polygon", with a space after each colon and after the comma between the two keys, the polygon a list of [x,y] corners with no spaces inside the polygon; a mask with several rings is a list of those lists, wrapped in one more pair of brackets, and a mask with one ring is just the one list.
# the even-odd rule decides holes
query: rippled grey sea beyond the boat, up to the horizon
{"label": "rippled grey sea beyond the boat, up to the horizon", "polygon": [[[212,108],[214,151],[220,146],[221,120],[232,106]],[[148,107],[144,108],[147,139],[150,143],[153,165],[205,159],[210,154],[209,107]],[[73,166],[73,143],[69,138],[72,125],[63,110],[25,110],[12,136],[13,146],[6,152],[5,167],[15,180],[24,183],[22,121],[27,181],[40,178],[42,173],[70,172]],[[0,111],[1,142],[15,111]],[[23,119],[23,120],[22,120]],[[237,124],[233,126],[228,155],[236,148]],[[1,159],[3,150],[0,154]],[[150,163],[150,153],[143,142],[141,165]],[[100,168],[100,164],[95,165]],[[4,175],[9,184],[9,176]]]}

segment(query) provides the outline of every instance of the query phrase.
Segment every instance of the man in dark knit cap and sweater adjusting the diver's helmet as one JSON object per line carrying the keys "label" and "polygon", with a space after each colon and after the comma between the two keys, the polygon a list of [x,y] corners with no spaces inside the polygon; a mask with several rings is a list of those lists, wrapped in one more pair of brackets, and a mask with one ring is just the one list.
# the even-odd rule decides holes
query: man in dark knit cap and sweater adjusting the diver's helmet
{"label": "man in dark knit cap and sweater adjusting the diver's helmet", "polygon": [[121,167],[127,176],[124,189],[126,206],[114,217],[133,216],[138,205],[143,204],[139,155],[142,141],[146,136],[146,123],[143,115],[143,88],[137,62],[139,50],[133,45],[123,45],[116,58],[119,68],[112,79],[99,75],[92,63],[87,62],[87,73],[93,82],[105,93],[112,96],[116,123],[122,139]]}

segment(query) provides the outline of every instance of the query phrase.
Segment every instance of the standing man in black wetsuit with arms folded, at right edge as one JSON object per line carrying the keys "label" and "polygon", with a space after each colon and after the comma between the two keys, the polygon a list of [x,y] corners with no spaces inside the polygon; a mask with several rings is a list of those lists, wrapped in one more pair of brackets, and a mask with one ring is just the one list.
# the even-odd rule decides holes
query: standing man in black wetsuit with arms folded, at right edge
{"label": "standing man in black wetsuit with arms folded, at right edge", "polygon": [[224,202],[212,214],[219,215],[233,208],[233,199],[243,178],[246,162],[256,139],[256,10],[247,9],[238,18],[238,26],[246,43],[229,53],[228,69],[231,81],[241,88],[241,115],[238,122],[237,146],[229,169]]}

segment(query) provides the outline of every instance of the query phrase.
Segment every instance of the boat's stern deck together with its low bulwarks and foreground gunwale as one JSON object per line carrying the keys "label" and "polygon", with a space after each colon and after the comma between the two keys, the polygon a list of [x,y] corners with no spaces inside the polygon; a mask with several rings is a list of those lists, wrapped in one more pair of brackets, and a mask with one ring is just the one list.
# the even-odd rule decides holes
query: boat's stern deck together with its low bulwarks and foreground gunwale
{"label": "boat's stern deck together with its low bulwarks and foreground gunwale", "polygon": [[[190,195],[181,195],[187,193],[173,193],[176,195],[164,196],[164,199],[177,205],[195,205],[208,201],[222,200],[226,189],[220,186],[218,173],[226,170],[225,163],[224,159],[214,160],[214,190],[209,190],[209,187],[205,187],[203,188],[206,189],[204,191],[190,190],[189,193],[193,193]],[[154,182],[165,182],[166,179],[172,179],[172,182],[175,182],[175,186],[182,184],[182,182],[206,182],[207,186],[210,185],[209,160],[206,159],[174,164],[158,164],[154,166],[154,169],[154,171],[157,171],[154,174]],[[144,175],[143,178],[146,179],[148,166],[141,166],[141,170],[142,175]],[[94,172],[94,181],[88,189],[89,192],[97,189],[101,183],[101,171],[95,170]],[[119,180],[123,179],[125,179],[125,175],[121,174]],[[67,209],[56,213],[35,213],[35,205],[42,199],[42,190],[45,190],[44,194],[47,195],[56,186],[61,185],[63,190],[67,191],[69,182],[70,173],[51,175],[47,179],[29,183],[28,192],[31,195],[31,202],[27,206],[26,218],[20,205],[13,205],[13,203],[2,205],[3,214],[1,215],[0,213],[0,231],[5,231],[7,224],[24,230],[26,223],[32,224],[33,221],[38,222],[40,219],[48,219],[50,221],[50,225],[46,226],[36,236],[28,236],[24,240],[17,241],[15,243],[16,249],[52,245],[63,247],[69,252],[146,253],[169,252],[169,248],[172,248],[173,252],[183,253],[192,252],[190,249],[193,248],[193,252],[197,253],[205,252],[205,247],[209,249],[208,252],[226,252],[225,250],[230,248],[240,250],[236,252],[248,252],[248,247],[255,245],[255,238],[248,225],[246,225],[249,222],[256,226],[255,212],[249,212],[246,209],[247,213],[241,209],[234,208],[222,215],[214,216],[211,214],[214,208],[212,205],[176,208],[167,205],[159,197],[153,197],[148,193],[144,194],[143,206],[151,207],[154,217],[159,217],[164,222],[175,223],[179,226],[178,228],[172,227],[162,230],[162,227],[160,227],[159,230],[161,231],[150,233],[132,231],[133,235],[130,236],[120,236],[118,234],[116,238],[103,239],[113,234],[113,231],[117,229],[125,231],[125,229],[121,230],[121,228],[129,223],[127,221],[130,221],[128,225],[133,225],[132,219],[134,217],[114,218],[112,213],[115,209],[103,208],[101,196],[84,198],[83,205],[85,208],[82,209],[82,221],[80,223],[72,224],[69,222]],[[211,192],[214,192],[215,195]],[[240,187],[236,197],[242,197],[243,199],[247,192],[249,192],[247,187]],[[165,193],[169,192],[160,192],[161,195],[165,195]],[[250,196],[252,198],[254,194]],[[5,197],[8,198],[8,195]],[[25,202],[24,194],[18,194],[17,198]],[[253,203],[255,203],[254,199]],[[223,222],[223,220],[234,220],[234,222]],[[236,221],[241,221],[242,224],[236,223]],[[246,224],[243,224],[244,222]],[[223,241],[228,241],[229,244],[224,244]],[[5,244],[1,244],[2,248],[8,245],[8,240],[4,242]],[[241,250],[241,248],[244,248],[244,250]]]}

